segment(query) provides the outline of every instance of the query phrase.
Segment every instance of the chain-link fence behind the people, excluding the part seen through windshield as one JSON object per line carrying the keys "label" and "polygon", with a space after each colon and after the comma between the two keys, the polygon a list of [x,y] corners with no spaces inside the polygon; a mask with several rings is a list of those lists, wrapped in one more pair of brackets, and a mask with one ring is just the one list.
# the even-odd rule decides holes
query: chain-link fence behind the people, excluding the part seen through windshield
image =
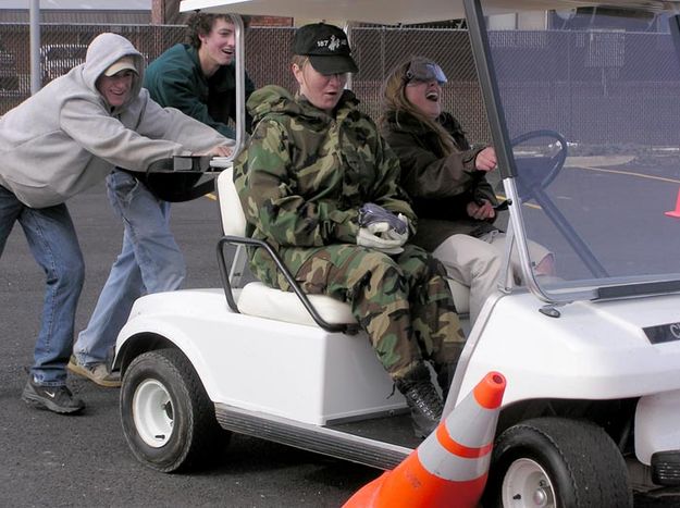
{"label": "chain-link fence behind the people, excluding the part seen through windshield", "polygon": [[[29,28],[26,24],[0,24],[0,114],[30,95]],[[294,89],[289,70],[295,28],[252,27],[246,37],[246,69],[256,85],[276,84]],[[184,26],[176,25],[49,25],[40,27],[42,85],[85,59],[87,45],[102,32],[128,38],[153,60],[175,42],[183,41]],[[477,83],[468,34],[458,29],[355,28],[353,46],[359,69],[353,88],[364,111],[373,117],[381,112],[384,76],[403,59],[426,54],[437,60],[449,76],[444,104],[463,119],[470,137],[487,139],[481,94]]]}

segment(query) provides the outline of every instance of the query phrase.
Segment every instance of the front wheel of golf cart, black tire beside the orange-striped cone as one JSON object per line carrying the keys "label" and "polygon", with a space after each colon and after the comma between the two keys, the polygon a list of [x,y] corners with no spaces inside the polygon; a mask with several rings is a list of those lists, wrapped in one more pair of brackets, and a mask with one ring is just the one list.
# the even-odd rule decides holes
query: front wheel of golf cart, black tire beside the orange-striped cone
{"label": "front wheel of golf cart, black tire beside the orange-striped cone", "polygon": [[528,420],[494,445],[483,506],[633,506],[626,462],[599,426],[564,418]]}

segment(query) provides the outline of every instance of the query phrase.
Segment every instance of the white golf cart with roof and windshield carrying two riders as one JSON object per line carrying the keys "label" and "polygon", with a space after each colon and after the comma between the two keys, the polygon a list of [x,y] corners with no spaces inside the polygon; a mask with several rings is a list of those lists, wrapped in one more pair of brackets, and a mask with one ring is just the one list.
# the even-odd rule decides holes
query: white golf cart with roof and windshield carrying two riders
{"label": "white golf cart with roof and windshield carrying two riders", "polygon": [[[633,490],[680,485],[680,2],[507,3],[184,0],[182,9],[467,20],[508,248],[498,292],[466,325],[445,413],[487,372],[507,379],[485,505],[631,506]],[[230,164],[213,163],[223,169],[223,287],[145,296],[119,335],[133,454],[172,472],[223,453],[236,432],[392,469],[419,442],[347,306],[297,286],[240,285],[244,246],[256,244],[243,236]],[[535,275],[529,239],[554,253],[555,276]],[[454,286],[465,318],[466,288]]]}

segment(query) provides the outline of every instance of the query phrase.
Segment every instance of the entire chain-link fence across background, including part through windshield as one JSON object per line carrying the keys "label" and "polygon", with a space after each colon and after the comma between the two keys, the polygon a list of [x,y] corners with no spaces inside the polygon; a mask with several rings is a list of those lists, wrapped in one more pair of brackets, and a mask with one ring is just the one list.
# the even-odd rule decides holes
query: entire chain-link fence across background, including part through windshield
{"label": "entire chain-link fence across background, including part through windshield", "polygon": [[[248,30],[246,69],[256,85],[276,84],[294,89],[289,71],[294,29]],[[176,25],[41,25],[42,83],[81,63],[87,45],[102,32],[127,37],[149,61],[184,37],[184,27]],[[444,109],[462,122],[472,143],[490,140],[467,30],[356,27],[351,38],[360,69],[353,77],[353,88],[371,116],[380,116],[381,87],[391,69],[410,55],[422,54],[436,60],[448,76],[443,90]],[[640,38],[644,38],[642,45]],[[676,128],[680,74],[668,36],[514,30],[492,33],[490,39],[500,74],[504,62],[532,69],[524,73],[517,70],[519,80],[514,80],[514,71],[509,70],[503,85],[504,108],[511,113],[511,132],[547,127],[570,140],[590,144],[680,146]],[[0,24],[0,114],[29,95],[28,47],[28,25]],[[655,58],[638,54],[639,48],[646,48]],[[641,65],[654,69],[640,73]],[[636,74],[656,78],[636,83],[631,78]],[[632,111],[635,119],[630,117]],[[546,112],[549,125],[545,125]]]}

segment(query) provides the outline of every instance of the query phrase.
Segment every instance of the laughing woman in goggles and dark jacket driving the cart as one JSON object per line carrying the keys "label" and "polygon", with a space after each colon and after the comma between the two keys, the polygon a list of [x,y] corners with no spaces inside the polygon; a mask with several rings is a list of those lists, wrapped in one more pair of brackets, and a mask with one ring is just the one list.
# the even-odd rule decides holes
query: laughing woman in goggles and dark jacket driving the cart
{"label": "laughing woman in goggles and dark jacket driving the cart", "polygon": [[[492,147],[472,149],[460,123],[442,111],[446,76],[416,57],[387,76],[381,131],[401,165],[401,185],[413,200],[419,228],[412,241],[433,252],[448,275],[470,287],[470,322],[500,275],[505,235],[494,226],[498,201],[486,173],[496,169]],[[530,243],[536,274],[553,273],[553,255]],[[515,274],[520,273],[512,261]]]}

